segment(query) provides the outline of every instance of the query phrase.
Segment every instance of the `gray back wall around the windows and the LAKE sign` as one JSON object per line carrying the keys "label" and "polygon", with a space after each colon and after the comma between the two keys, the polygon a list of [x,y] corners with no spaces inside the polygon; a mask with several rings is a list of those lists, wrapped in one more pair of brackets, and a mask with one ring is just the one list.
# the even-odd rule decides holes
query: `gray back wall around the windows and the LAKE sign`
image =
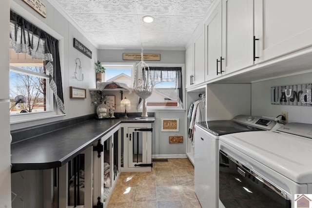
{"label": "gray back wall around the windows and the LAKE sign", "polygon": [[[185,51],[151,51],[143,50],[146,54],[160,54],[160,61],[149,61],[145,60],[147,64],[185,64]],[[123,53],[141,53],[140,50],[98,50],[98,60],[101,62],[136,62],[140,60],[122,60]],[[183,76],[185,73],[183,72]],[[184,80],[184,79],[183,79]],[[183,83],[185,86],[185,83]],[[119,92],[106,92],[106,95],[115,95],[116,103],[120,102],[121,95]],[[137,112],[137,100],[138,97],[135,93],[128,94],[124,92],[123,96],[126,96],[131,101],[131,112]],[[185,95],[184,95],[185,100]],[[187,108],[185,106],[184,108]],[[185,144],[186,144],[186,114],[185,110],[170,111],[170,110],[148,110],[148,112],[155,112],[155,124],[153,131],[153,141],[152,141],[152,154],[156,155],[178,155],[185,154]],[[179,118],[179,132],[161,132],[161,118]],[[183,136],[183,143],[180,144],[170,144],[169,136]]]}

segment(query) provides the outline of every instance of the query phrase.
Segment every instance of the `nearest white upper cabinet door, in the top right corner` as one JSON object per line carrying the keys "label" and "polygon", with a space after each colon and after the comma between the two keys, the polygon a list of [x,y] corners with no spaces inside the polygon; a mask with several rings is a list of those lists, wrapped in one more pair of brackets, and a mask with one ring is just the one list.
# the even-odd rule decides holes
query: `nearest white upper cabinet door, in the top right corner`
{"label": "nearest white upper cabinet door, in the top right corner", "polygon": [[256,62],[312,45],[312,1],[254,0]]}

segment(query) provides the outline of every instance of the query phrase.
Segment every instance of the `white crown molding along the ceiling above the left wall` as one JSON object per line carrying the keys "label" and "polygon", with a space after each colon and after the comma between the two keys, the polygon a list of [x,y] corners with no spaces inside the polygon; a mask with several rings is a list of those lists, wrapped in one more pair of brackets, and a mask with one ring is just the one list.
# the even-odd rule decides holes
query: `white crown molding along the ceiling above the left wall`
{"label": "white crown molding along the ceiling above the left wall", "polygon": [[69,21],[69,23],[71,23],[85,38],[87,38],[88,41],[91,42],[91,44],[93,44],[97,49],[98,49],[98,44],[95,42],[95,40],[93,38],[91,38],[86,32],[84,32],[84,30],[78,25],[78,23],[75,21],[75,19],[73,19],[66,11],[63,7],[61,7],[59,5],[58,2],[56,2],[55,0],[47,0],[55,9],[58,10],[58,12]]}

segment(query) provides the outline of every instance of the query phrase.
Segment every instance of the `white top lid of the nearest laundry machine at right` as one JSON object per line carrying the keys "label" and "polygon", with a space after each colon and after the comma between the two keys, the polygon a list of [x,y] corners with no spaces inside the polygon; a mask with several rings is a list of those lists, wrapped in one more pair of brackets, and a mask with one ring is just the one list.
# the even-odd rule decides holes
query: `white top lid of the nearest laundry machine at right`
{"label": "white top lid of the nearest laundry machine at right", "polygon": [[312,139],[275,131],[233,133],[219,139],[296,183],[312,183]]}

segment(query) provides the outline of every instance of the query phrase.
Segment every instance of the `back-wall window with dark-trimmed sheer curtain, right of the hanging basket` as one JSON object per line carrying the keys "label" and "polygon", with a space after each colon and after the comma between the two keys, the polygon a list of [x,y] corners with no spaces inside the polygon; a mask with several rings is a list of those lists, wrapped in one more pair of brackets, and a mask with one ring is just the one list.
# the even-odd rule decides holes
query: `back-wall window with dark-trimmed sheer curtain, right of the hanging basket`
{"label": "back-wall window with dark-trimmed sheer curtain, right of the hanging basket", "polygon": [[[147,107],[183,108],[181,67],[150,67],[150,75],[146,76],[151,76],[151,79],[155,81],[153,94],[146,99]],[[140,100],[139,108],[141,106]]]}

